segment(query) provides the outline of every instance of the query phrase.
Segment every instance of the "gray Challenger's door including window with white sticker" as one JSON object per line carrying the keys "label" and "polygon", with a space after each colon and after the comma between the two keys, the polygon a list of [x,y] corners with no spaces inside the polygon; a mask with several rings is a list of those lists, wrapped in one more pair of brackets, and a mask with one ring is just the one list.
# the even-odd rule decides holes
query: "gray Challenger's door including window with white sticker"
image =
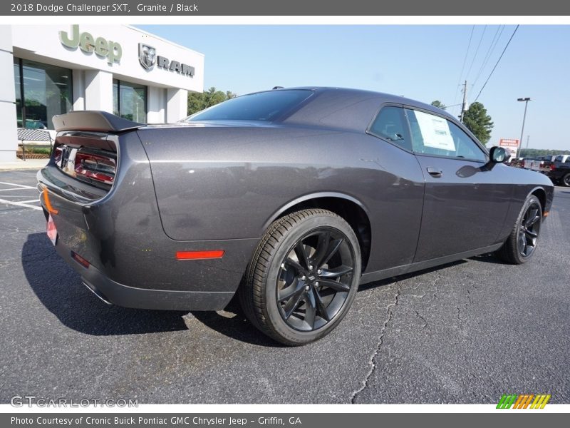
{"label": "gray Challenger's door including window with white sticker", "polygon": [[413,151],[425,178],[414,262],[484,248],[496,242],[512,184],[503,165],[445,116],[407,108]]}

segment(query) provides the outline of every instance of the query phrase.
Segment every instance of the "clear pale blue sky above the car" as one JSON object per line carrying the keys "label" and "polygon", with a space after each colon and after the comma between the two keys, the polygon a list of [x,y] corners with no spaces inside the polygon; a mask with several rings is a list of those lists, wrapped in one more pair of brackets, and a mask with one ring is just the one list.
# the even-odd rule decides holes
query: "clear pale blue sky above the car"
{"label": "clear pale blue sky above the car", "polygon": [[[473,102],[516,26],[140,25],[201,52],[204,89],[238,94],[274,86],[341,86],[440,100],[460,113],[462,83]],[[570,26],[520,26],[477,101],[499,138],[522,147],[570,150]],[[494,46],[494,48],[493,48]]]}

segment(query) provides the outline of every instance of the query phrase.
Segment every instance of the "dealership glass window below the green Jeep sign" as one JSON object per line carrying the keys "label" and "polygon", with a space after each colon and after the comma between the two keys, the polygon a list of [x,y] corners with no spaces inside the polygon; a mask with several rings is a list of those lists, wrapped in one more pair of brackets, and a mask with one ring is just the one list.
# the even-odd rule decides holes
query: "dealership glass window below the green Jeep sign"
{"label": "dealership glass window below the green Jeep sign", "polygon": [[20,128],[53,129],[51,118],[72,110],[71,70],[14,58]]}

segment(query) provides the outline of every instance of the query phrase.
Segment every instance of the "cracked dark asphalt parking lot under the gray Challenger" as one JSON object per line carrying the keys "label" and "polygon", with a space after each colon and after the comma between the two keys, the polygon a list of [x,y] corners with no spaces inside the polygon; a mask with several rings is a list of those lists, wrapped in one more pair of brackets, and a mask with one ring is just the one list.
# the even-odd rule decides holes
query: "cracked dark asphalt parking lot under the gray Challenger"
{"label": "cracked dark asphalt parking lot under the gray Challenger", "polygon": [[483,255],[366,285],[331,335],[289,348],[237,309],[100,302],[48,240],[35,174],[0,172],[0,402],[570,402],[570,189],[531,263]]}

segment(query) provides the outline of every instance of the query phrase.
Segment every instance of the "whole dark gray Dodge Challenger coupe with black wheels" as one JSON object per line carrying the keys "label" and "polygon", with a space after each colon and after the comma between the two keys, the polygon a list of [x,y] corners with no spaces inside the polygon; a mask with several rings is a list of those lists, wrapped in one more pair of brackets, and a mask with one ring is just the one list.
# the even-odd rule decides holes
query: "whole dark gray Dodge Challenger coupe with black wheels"
{"label": "whole dark gray Dodge Challenger coupe with black wheels", "polygon": [[303,345],[359,284],[496,251],[524,263],[552,203],[445,111],[341,88],[252,93],[175,124],[53,118],[38,188],[56,250],[105,302],[221,310]]}

